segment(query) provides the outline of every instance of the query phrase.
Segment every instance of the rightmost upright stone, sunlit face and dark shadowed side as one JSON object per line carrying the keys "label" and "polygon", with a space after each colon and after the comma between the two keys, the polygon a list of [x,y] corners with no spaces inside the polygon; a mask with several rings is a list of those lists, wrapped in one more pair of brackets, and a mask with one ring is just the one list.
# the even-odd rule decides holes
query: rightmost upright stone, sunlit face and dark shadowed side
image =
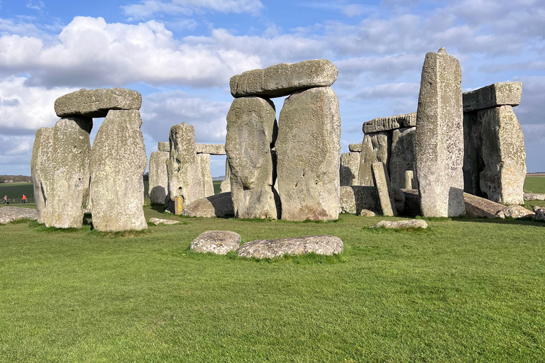
{"label": "rightmost upright stone, sunlit face and dark shadowed side", "polygon": [[480,172],[480,190],[491,201],[523,204],[526,151],[517,116],[511,106],[501,106],[479,111],[478,118],[483,125],[485,164]]}

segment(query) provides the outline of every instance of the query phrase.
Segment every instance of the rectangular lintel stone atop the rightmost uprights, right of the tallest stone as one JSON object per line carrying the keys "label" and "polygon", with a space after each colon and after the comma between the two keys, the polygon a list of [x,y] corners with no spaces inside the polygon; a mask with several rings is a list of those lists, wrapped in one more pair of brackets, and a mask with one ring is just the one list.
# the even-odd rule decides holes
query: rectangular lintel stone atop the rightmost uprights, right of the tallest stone
{"label": "rectangular lintel stone atop the rightmost uprights, right of the tallest stone", "polygon": [[522,96],[522,82],[490,84],[463,94],[463,112],[498,106],[518,106]]}

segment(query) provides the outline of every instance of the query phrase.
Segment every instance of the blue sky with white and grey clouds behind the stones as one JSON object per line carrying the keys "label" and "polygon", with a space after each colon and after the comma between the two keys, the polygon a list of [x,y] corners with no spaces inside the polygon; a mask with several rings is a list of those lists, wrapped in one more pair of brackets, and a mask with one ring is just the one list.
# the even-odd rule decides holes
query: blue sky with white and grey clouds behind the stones
{"label": "blue sky with white and grey clouds behind the stones", "polygon": [[140,91],[149,156],[181,122],[224,143],[234,74],[316,58],[338,67],[347,152],[364,121],[417,110],[424,55],[441,47],[464,90],[522,81],[528,171],[545,172],[544,35],[545,0],[1,0],[0,174],[30,175],[35,131],[67,92]]}

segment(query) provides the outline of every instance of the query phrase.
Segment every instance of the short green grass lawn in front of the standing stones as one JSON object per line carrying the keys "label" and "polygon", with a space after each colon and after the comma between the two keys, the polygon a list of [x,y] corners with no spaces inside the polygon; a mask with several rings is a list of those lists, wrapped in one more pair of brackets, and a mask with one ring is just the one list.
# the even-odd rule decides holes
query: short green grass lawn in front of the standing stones
{"label": "short green grass lawn in front of the standing stones", "polygon": [[[145,208],[146,218],[179,218]],[[145,233],[0,225],[0,362],[543,362],[545,223],[180,218]],[[338,257],[199,255],[329,234]]]}

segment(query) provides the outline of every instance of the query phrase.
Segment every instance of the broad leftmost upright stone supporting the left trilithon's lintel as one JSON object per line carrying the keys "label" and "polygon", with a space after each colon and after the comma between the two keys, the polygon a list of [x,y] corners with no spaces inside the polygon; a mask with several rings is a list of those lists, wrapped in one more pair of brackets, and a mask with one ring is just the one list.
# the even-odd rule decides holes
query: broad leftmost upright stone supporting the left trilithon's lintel
{"label": "broad leftmost upright stone supporting the left trilithon's lintel", "polygon": [[48,227],[82,227],[89,197],[92,125],[92,118],[74,116],[36,133],[31,169],[39,221]]}

